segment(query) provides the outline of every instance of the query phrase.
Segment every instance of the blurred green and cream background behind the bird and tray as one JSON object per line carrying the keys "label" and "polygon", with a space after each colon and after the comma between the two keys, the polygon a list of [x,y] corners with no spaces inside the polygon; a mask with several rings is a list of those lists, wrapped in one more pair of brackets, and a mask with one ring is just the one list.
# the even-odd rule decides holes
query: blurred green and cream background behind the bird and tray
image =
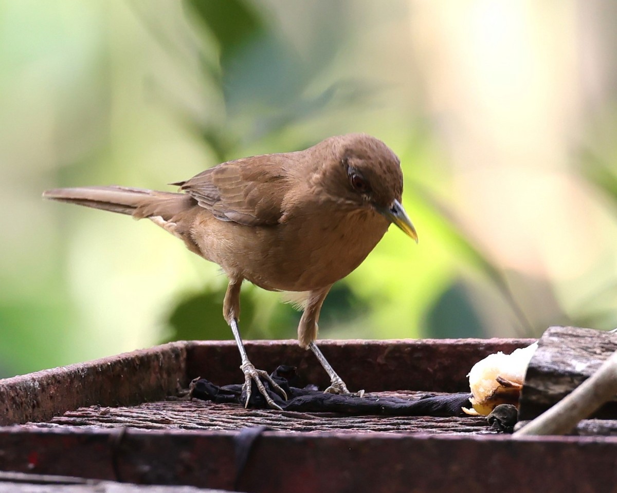
{"label": "blurred green and cream background behind the bird and tray", "polygon": [[[0,377],[228,339],[226,282],[148,221],[44,202],[347,132],[402,160],[391,228],[322,338],[617,325],[617,4],[0,1]],[[242,332],[299,313],[245,285]]]}

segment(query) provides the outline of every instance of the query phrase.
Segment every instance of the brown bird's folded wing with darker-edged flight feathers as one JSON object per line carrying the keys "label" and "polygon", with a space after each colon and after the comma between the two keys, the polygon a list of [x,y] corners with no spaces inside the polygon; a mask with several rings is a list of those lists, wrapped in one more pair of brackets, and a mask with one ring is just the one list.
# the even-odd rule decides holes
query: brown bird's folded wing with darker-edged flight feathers
{"label": "brown bird's folded wing with darker-edged flight feathers", "polygon": [[228,161],[184,182],[173,183],[221,221],[247,226],[277,224],[288,180],[283,155]]}

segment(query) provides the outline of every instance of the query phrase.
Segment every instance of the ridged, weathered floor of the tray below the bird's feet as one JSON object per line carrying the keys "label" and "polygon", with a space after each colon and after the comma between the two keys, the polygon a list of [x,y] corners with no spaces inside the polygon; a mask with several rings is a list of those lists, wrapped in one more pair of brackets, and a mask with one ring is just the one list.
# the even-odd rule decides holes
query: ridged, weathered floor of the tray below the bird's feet
{"label": "ridged, weathered floor of the tray below the bird's feet", "polygon": [[[426,393],[383,392],[379,396],[420,399]],[[25,427],[136,428],[141,430],[242,430],[247,426],[268,426],[271,430],[307,433],[495,433],[484,417],[391,417],[344,416],[272,409],[244,409],[238,404],[207,401],[147,402],[132,407],[81,407],[53,418],[49,423],[28,423]]]}

